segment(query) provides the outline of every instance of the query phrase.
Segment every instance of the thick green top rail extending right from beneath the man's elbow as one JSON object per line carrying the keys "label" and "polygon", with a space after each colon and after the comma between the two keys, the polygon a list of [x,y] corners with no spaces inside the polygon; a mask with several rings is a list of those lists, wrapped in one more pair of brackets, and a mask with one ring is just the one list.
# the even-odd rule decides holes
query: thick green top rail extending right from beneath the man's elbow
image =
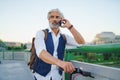
{"label": "thick green top rail extending right from beneath the man's elbow", "polygon": [[82,45],[76,49],[66,49],[66,52],[96,52],[96,53],[120,53],[120,43]]}

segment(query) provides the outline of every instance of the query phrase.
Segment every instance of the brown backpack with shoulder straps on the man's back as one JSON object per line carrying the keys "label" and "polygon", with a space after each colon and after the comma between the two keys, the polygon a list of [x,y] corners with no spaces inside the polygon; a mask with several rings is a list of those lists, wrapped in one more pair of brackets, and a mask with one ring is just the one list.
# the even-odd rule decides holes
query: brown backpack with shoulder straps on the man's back
{"label": "brown backpack with shoulder straps on the man's back", "polygon": [[[42,31],[45,34],[44,41],[46,41],[47,36],[48,36],[47,29],[44,29]],[[66,37],[65,37],[64,34],[62,34],[62,37],[66,41]],[[31,49],[30,49],[30,52],[31,52],[30,61],[28,62],[28,66],[31,70],[33,70],[33,73],[36,71],[36,67],[37,67],[38,59],[39,59],[37,54],[36,54],[36,51],[35,51],[34,40],[35,40],[35,37],[33,37],[33,39],[32,39],[32,46],[31,46]]]}

